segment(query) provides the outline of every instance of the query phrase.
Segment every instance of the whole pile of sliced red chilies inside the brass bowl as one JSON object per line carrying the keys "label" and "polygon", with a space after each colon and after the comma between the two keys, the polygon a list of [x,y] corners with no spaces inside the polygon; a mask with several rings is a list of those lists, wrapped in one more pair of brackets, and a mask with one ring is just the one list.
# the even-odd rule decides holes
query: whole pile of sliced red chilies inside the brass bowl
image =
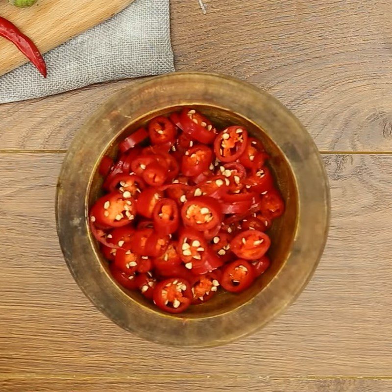
{"label": "whole pile of sliced red chilies inside the brass bowl", "polygon": [[132,133],[119,154],[100,163],[106,194],[89,219],[120,285],[180,313],[219,286],[242,292],[269,267],[265,231],[284,203],[243,126],[218,132],[184,108]]}

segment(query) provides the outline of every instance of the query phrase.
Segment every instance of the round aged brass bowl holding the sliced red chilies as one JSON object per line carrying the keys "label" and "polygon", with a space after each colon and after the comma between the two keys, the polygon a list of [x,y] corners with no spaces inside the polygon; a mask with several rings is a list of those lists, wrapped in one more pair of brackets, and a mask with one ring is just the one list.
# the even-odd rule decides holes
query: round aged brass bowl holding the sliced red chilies
{"label": "round aged brass bowl holding the sliced red chilies", "polygon": [[[162,313],[111,277],[88,227],[99,195],[98,164],[119,140],[160,114],[187,105],[224,126],[241,124],[270,152],[270,167],[286,202],[270,230],[272,265],[242,294],[220,293],[180,315]],[[278,175],[276,175],[278,174]],[[329,188],[318,149],[279,101],[240,80],[173,73],[132,85],[111,97],[82,126],[57,185],[57,231],[65,260],[87,297],[124,329],[150,341],[195,347],[230,342],[263,327],[303,290],[328,232]]]}

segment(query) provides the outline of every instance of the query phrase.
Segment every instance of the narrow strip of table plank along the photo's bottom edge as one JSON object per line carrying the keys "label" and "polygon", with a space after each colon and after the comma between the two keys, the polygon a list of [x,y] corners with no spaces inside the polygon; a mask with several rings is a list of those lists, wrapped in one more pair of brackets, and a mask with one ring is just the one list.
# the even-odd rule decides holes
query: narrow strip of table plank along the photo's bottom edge
{"label": "narrow strip of table plank along the photo's bottom edge", "polygon": [[211,378],[192,377],[144,378],[132,376],[119,378],[114,376],[51,378],[9,378],[0,380],[2,392],[390,392],[391,380],[359,380],[359,379],[274,379],[259,377],[224,377]]}

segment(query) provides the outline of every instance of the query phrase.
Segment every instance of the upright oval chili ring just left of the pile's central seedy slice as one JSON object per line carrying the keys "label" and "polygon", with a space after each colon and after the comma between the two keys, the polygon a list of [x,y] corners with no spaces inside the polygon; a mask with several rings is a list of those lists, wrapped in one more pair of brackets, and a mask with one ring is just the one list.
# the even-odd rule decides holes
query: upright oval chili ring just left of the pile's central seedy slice
{"label": "upright oval chili ring just left of the pile's central seedy slice", "polygon": [[152,219],[157,233],[174,233],[180,224],[177,203],[168,198],[159,200],[152,211]]}

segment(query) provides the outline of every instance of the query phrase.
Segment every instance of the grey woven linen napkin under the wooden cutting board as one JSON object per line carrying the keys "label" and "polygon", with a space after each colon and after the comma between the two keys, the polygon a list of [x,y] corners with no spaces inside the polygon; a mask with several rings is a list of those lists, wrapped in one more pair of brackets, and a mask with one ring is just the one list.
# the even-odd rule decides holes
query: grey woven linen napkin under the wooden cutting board
{"label": "grey woven linen napkin under the wooden cutting board", "polygon": [[174,71],[169,0],[135,0],[113,18],[44,55],[48,77],[25,64],[0,77],[0,103],[108,80]]}

